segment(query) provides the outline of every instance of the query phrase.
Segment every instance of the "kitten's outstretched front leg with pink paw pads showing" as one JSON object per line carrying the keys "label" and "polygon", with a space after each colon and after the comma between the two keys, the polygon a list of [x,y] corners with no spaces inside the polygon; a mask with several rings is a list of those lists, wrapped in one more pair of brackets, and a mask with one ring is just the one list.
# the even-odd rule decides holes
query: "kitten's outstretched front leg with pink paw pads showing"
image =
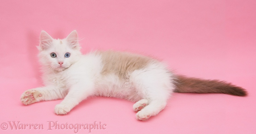
{"label": "kitten's outstretched front leg with pink paw pads showing", "polygon": [[39,87],[26,90],[21,94],[20,101],[27,105],[39,101],[62,99],[66,95],[65,90],[54,86]]}

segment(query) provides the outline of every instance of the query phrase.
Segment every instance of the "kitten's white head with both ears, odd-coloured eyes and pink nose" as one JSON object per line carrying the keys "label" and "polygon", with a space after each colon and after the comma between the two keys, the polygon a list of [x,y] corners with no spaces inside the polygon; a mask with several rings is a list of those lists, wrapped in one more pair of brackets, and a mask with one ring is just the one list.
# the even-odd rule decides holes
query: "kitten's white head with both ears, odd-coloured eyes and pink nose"
{"label": "kitten's white head with both ears, odd-coloured eyes and pink nose", "polygon": [[42,31],[38,49],[40,62],[51,71],[60,72],[67,69],[81,56],[76,31],[72,31],[65,39],[53,39]]}

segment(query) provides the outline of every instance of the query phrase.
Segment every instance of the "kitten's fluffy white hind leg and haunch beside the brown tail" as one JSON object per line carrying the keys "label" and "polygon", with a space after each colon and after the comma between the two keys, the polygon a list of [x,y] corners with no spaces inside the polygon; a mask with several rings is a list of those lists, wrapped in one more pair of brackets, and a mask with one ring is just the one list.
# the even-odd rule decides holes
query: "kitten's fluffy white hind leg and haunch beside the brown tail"
{"label": "kitten's fluffy white hind leg and haunch beside the brown tail", "polygon": [[138,111],[136,114],[137,120],[147,120],[150,116],[157,115],[165,108],[174,89],[174,84],[172,83],[172,74],[168,72],[164,65],[151,64],[147,68],[135,70],[131,74],[131,80],[139,96],[142,96],[142,100],[148,100],[148,105],[145,105],[141,110],[138,109],[140,111],[136,109],[136,107],[141,106],[139,105],[140,101],[134,104],[134,111]]}

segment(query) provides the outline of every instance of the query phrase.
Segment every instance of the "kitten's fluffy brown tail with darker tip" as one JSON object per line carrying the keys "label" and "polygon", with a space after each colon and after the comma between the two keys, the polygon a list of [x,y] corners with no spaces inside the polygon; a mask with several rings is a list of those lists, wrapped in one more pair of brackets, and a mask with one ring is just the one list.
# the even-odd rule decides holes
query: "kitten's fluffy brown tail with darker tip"
{"label": "kitten's fluffy brown tail with darker tip", "polygon": [[224,93],[236,96],[246,96],[247,91],[231,83],[220,80],[204,80],[200,78],[176,76],[177,93]]}

